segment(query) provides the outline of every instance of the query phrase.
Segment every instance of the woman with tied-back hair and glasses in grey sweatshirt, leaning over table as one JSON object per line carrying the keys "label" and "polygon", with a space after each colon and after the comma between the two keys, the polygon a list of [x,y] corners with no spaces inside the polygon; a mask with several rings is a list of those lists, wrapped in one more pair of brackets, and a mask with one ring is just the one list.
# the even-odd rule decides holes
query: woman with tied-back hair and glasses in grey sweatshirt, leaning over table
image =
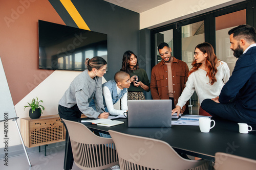
{"label": "woman with tied-back hair and glasses in grey sweatshirt, leaning over table", "polygon": [[[82,113],[93,118],[108,118],[109,116],[109,113],[102,111],[102,109],[104,110],[102,77],[106,73],[106,61],[101,57],[87,58],[86,65],[87,69],[72,81],[59,101],[58,111],[60,118],[67,120],[80,118]],[[97,104],[96,110],[89,107],[89,103],[93,98]],[[68,131],[66,133],[66,144],[67,135]],[[67,156],[67,165],[69,169],[72,169],[74,158],[70,141],[68,147],[68,151],[65,151],[65,158]]]}

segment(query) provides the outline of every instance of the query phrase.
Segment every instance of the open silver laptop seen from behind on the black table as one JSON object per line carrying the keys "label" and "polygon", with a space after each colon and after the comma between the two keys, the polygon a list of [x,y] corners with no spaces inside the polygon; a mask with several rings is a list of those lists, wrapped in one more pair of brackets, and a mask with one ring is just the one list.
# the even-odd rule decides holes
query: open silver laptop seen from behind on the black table
{"label": "open silver laptop seen from behind on the black table", "polygon": [[129,100],[128,127],[172,127],[172,100]]}

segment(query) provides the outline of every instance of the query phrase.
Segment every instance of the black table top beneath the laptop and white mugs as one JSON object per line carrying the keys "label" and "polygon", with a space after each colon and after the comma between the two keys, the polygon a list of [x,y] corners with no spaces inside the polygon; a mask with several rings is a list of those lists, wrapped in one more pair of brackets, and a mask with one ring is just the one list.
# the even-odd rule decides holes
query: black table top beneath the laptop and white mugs
{"label": "black table top beneath the laptop and white mugs", "polygon": [[127,119],[119,118],[124,124],[102,127],[84,124],[95,132],[108,134],[114,130],[126,134],[160,139],[170,144],[177,152],[215,159],[216,152],[238,155],[256,160],[256,131],[239,133],[237,123],[215,119],[216,125],[209,133],[200,132],[199,126],[173,125],[172,128],[128,128]]}

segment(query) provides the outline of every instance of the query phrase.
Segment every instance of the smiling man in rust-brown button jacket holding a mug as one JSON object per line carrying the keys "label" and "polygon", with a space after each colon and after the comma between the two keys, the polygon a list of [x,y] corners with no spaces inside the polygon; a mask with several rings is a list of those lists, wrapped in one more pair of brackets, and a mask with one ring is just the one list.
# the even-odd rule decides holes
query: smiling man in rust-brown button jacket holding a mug
{"label": "smiling man in rust-brown button jacket holding a mug", "polygon": [[[162,61],[152,69],[151,94],[154,100],[171,99],[175,108],[187,82],[188,66],[172,56],[172,48],[165,42],[158,45],[158,52]],[[187,105],[181,113],[189,114]]]}

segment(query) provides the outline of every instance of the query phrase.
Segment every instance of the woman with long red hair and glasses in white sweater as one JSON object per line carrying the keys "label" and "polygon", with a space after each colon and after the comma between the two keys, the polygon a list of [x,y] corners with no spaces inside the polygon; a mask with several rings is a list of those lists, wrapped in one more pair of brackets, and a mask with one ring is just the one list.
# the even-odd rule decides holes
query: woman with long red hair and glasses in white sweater
{"label": "woman with long red hair and glasses in white sweater", "polygon": [[[172,114],[180,113],[180,109],[189,100],[196,90],[200,105],[204,99],[212,99],[219,96],[222,87],[229,79],[227,63],[217,59],[211,44],[203,42],[198,44],[194,52],[193,68],[188,73],[186,87],[178,100],[178,104],[172,110]],[[199,115],[210,116],[201,106]]]}

